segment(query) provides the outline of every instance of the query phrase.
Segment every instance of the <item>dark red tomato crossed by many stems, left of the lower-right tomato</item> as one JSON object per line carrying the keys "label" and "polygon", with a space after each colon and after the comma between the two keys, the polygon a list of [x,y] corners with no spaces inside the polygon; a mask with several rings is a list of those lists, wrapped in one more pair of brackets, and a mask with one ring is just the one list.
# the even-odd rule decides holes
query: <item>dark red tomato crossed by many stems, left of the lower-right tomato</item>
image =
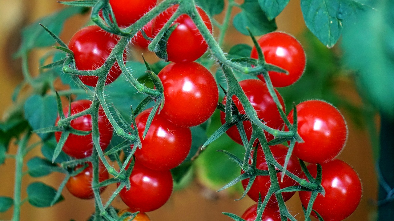
{"label": "dark red tomato crossed by many stems, left of the lower-right tomato", "polygon": [[[284,165],[284,160],[286,158],[286,154],[287,154],[287,147],[285,147],[282,144],[279,145],[275,145],[270,147],[271,152],[273,154],[273,157],[275,158],[275,160],[280,164],[280,165]],[[251,162],[249,162],[251,163]],[[259,145],[258,149],[257,149],[257,162],[256,162],[256,167],[257,169],[262,169],[262,170],[268,170],[267,167],[267,162],[266,162],[266,158],[264,156],[264,152],[262,147]],[[290,161],[287,165],[287,170],[290,171],[291,173],[293,173],[294,175],[299,175],[301,173],[301,166],[299,165],[299,161],[295,156],[291,156]],[[241,170],[241,174],[245,173],[243,170]],[[281,189],[289,187],[289,186],[295,186],[297,184],[296,181],[294,181],[292,178],[290,178],[289,176],[284,176],[283,178],[283,182],[281,182],[281,176],[282,176],[282,172],[277,173],[278,176],[278,180],[279,180],[279,186]],[[242,186],[243,189],[246,189],[247,184],[249,183],[249,178],[242,180]],[[261,197],[264,200],[264,197],[266,197],[267,193],[268,193],[268,189],[271,186],[271,180],[269,179],[269,176],[256,176],[255,181],[252,184],[251,189],[249,190],[249,192],[247,193],[247,195],[253,199],[254,201],[258,202],[258,197],[259,194],[261,194]],[[295,192],[285,192],[282,193],[283,199],[284,201],[288,201]],[[269,199],[269,204],[275,203],[277,202],[275,195],[272,195],[271,198]]]}

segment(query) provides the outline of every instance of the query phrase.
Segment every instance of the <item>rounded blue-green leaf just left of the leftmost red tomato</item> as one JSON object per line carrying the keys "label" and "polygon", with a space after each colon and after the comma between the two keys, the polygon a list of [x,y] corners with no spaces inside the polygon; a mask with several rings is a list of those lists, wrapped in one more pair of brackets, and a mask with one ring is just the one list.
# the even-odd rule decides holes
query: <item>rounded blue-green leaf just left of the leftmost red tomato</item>
{"label": "rounded blue-green leaf just left of the leftmost red tomato", "polygon": [[[41,97],[30,96],[24,104],[25,117],[33,130],[55,125],[58,111],[56,110],[56,98],[53,96]],[[47,139],[50,134],[38,134],[41,139]]]}

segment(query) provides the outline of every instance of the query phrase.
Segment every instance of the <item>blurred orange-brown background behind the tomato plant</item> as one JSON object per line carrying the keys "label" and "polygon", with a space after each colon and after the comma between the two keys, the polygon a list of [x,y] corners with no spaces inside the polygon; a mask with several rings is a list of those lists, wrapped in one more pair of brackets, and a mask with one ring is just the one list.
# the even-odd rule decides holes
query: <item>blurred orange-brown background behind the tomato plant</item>
{"label": "blurred orange-brown background behind the tomato plant", "polygon": [[[0,99],[2,105],[0,105],[0,115],[3,115],[11,105],[13,88],[22,80],[20,60],[14,60],[12,58],[12,54],[19,48],[21,28],[63,6],[58,4],[56,0],[3,0],[1,6]],[[70,19],[65,25],[61,39],[68,42],[72,34],[85,24],[88,19],[88,16],[76,16]],[[305,29],[298,0],[290,1],[290,4],[277,18],[277,24],[279,30],[296,36]],[[229,30],[228,33],[229,35],[227,35],[226,41],[230,43],[248,43],[251,45],[249,37],[236,35],[236,32],[232,30]],[[46,49],[43,49],[31,53],[29,61],[30,71],[33,74],[37,74],[37,60],[45,51]],[[338,82],[338,93],[360,102],[360,98],[352,82],[347,80]],[[347,115],[349,113],[346,111],[342,111],[342,113],[345,118],[348,118]],[[363,197],[356,212],[346,220],[374,220],[377,181],[368,134],[356,128],[350,121],[348,121],[348,127],[348,143],[339,158],[348,162],[359,173],[363,183]],[[10,147],[10,151],[11,153],[16,152],[15,145]],[[35,154],[41,154],[39,149],[33,151],[28,158]],[[0,165],[0,195],[9,197],[13,195],[14,164],[15,161],[13,159],[7,159],[4,165]],[[57,173],[46,176],[45,178],[39,178],[40,181],[53,187],[58,187],[62,179],[63,175]],[[25,176],[22,190],[26,189],[26,186],[33,180],[37,180],[37,178]],[[106,199],[106,197],[109,197],[114,188],[115,186],[111,186],[104,191],[103,198]],[[52,208],[35,208],[25,203],[22,206],[21,220],[69,221],[70,219],[74,219],[76,221],[85,221],[93,213],[93,200],[76,199],[67,190],[63,191],[63,196],[65,197],[65,201],[56,204]],[[26,197],[26,193],[22,191],[22,198],[24,197]],[[238,199],[239,197],[240,195],[230,195],[225,191],[216,193],[216,191],[205,188],[195,181],[188,188],[175,191],[167,204],[154,212],[149,212],[148,215],[152,221],[226,221],[231,219],[221,214],[221,212],[242,215],[245,209],[254,203],[248,197],[245,197],[241,201],[234,201],[234,199]],[[297,196],[286,202],[286,204],[294,215],[298,214],[296,215],[297,220],[303,220],[302,210]],[[114,206],[121,209],[126,207],[120,198],[115,199]],[[0,214],[0,220],[9,220],[11,217],[12,208],[10,211]]]}

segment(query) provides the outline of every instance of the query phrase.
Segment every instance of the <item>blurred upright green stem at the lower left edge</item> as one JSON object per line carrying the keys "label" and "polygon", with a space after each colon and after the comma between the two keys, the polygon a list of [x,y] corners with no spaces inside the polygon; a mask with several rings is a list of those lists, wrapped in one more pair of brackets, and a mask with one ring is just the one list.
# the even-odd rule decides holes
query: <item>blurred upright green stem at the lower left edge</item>
{"label": "blurred upright green stem at the lower left edge", "polygon": [[17,155],[15,157],[15,186],[14,186],[14,213],[12,221],[20,220],[20,206],[22,205],[21,189],[22,189],[22,177],[23,177],[23,153],[26,148],[27,142],[29,141],[31,132],[28,131],[24,137],[19,141]]}

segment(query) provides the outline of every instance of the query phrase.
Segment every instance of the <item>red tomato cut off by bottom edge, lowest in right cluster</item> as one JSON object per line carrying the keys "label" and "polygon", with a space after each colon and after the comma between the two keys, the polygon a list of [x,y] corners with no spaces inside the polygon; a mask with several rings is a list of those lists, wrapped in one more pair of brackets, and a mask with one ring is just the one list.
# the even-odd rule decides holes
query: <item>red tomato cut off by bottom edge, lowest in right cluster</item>
{"label": "red tomato cut off by bottom edge, lowest in right cluster", "polygon": [[[255,221],[256,217],[257,217],[257,203],[247,208],[241,218],[245,219],[246,221]],[[279,213],[278,206],[267,205],[266,208],[264,208],[261,221],[281,221],[281,214]]]}

